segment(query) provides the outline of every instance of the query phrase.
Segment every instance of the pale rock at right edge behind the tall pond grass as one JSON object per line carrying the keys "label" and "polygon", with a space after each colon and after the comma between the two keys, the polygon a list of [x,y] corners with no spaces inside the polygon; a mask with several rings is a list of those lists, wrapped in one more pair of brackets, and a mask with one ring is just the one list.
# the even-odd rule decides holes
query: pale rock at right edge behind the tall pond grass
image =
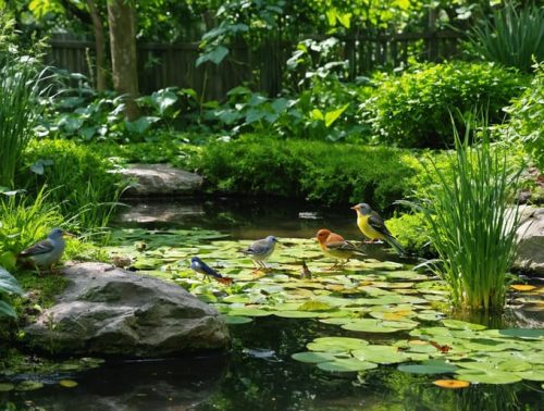
{"label": "pale rock at right edge behind the tall pond grass", "polygon": [[524,209],[517,235],[519,252],[514,269],[544,276],[544,209]]}

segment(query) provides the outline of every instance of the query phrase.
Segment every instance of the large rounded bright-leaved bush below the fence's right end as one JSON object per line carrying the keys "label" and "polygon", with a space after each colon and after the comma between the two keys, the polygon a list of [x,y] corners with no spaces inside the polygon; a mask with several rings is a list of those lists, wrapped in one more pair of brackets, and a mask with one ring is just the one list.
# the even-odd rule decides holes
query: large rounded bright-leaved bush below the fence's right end
{"label": "large rounded bright-leaved bush below the fence's right end", "polygon": [[373,98],[362,104],[381,142],[443,148],[454,142],[452,117],[462,133],[462,117],[474,107],[500,123],[503,107],[518,96],[526,77],[486,63],[449,62],[417,66],[400,76],[378,78]]}

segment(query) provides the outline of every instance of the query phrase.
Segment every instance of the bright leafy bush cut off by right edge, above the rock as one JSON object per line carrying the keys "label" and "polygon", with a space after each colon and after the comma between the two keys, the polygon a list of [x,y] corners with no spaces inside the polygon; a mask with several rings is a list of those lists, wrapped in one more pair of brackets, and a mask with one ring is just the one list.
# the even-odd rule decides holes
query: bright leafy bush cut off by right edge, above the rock
{"label": "bright leafy bush cut off by right edge, above the rock", "polygon": [[521,141],[536,165],[544,170],[544,63],[536,65],[531,86],[511,107],[505,109],[510,114],[506,127],[508,137]]}

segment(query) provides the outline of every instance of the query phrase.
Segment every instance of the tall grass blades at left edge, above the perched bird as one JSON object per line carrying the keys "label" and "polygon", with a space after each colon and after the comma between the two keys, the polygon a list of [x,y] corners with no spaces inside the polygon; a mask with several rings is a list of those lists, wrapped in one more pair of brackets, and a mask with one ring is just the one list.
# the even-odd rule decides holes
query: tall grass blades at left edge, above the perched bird
{"label": "tall grass blades at left edge, above the perched bird", "polygon": [[44,72],[13,42],[13,22],[0,15],[0,186],[13,187],[23,151],[40,111]]}

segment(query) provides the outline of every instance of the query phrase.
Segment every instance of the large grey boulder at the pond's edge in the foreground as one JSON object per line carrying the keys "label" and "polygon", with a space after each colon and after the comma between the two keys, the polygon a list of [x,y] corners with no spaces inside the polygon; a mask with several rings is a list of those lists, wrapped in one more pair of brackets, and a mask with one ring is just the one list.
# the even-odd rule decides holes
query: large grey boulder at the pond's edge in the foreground
{"label": "large grey boulder at the pond's edge in the foreground", "polygon": [[215,309],[174,283],[82,263],[70,285],[25,328],[36,349],[57,354],[163,357],[224,349],[227,327]]}

